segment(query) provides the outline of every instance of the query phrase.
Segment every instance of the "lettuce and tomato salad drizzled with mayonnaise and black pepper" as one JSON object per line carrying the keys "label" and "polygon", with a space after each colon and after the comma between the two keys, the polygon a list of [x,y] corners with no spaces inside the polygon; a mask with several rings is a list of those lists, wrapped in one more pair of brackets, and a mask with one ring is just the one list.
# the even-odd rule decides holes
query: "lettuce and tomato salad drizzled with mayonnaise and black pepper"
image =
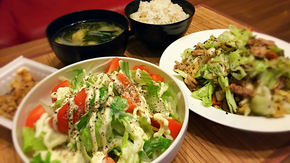
{"label": "lettuce and tomato salad drizzled with mayonnaise and black pepper", "polygon": [[118,58],[106,63],[105,72],[93,67],[60,77],[51,106],[31,111],[23,127],[31,162],[151,162],[176,139],[178,96],[163,77],[143,65],[129,70]]}

